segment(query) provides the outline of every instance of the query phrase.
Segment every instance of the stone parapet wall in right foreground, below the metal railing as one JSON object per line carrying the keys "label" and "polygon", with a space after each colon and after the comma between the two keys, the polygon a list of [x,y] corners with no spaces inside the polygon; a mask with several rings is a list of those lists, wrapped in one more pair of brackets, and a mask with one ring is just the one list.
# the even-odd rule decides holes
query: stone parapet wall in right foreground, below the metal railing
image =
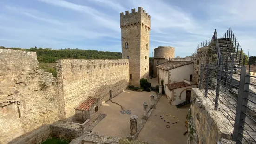
{"label": "stone parapet wall in right foreground, below the metal railing", "polygon": [[187,144],[217,144],[219,141],[232,144],[231,132],[223,124],[227,119],[221,116],[209,98],[205,98],[199,89],[192,88]]}

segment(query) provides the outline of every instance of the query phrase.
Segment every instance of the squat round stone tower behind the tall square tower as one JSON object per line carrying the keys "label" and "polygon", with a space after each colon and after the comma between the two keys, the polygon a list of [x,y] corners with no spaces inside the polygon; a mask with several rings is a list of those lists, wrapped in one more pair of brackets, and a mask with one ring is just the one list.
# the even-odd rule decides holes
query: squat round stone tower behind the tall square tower
{"label": "squat round stone tower behind the tall square tower", "polygon": [[157,76],[157,65],[163,64],[174,58],[175,48],[171,46],[158,46],[154,49],[154,76]]}

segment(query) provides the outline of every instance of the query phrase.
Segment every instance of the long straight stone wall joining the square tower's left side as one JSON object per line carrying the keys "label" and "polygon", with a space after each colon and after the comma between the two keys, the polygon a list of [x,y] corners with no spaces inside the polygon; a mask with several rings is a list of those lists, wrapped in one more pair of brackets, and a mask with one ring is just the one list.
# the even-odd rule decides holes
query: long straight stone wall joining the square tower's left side
{"label": "long straight stone wall joining the square tower's left side", "polygon": [[69,118],[75,114],[74,108],[89,96],[100,98],[104,103],[123,92],[128,85],[128,59],[117,60],[58,60],[58,81],[62,83],[59,93],[62,116]]}

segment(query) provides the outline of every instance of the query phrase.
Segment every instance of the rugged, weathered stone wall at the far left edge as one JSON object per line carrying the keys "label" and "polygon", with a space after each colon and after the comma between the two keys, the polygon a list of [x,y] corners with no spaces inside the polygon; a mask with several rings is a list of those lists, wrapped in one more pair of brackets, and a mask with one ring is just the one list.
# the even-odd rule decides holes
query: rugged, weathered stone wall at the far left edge
{"label": "rugged, weathered stone wall at the far left edge", "polygon": [[0,49],[1,144],[58,120],[57,99],[56,79],[38,68],[36,52]]}

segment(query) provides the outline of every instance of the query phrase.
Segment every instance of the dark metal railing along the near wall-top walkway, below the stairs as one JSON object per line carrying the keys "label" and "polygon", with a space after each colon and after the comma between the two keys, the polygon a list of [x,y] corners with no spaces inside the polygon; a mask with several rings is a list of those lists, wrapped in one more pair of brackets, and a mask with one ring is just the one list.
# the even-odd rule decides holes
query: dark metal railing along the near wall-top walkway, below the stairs
{"label": "dark metal railing along the near wall-top walkway, below the stairs", "polygon": [[[256,96],[250,91],[251,76],[245,66],[236,66],[232,55],[231,63],[201,64],[199,89],[210,98],[214,110],[220,111],[232,125],[232,140],[236,144],[256,143],[256,111],[248,103],[256,106],[256,101],[249,98]],[[237,92],[238,91],[238,92]],[[252,116],[253,115],[253,116]],[[229,125],[230,125],[229,124]]]}

